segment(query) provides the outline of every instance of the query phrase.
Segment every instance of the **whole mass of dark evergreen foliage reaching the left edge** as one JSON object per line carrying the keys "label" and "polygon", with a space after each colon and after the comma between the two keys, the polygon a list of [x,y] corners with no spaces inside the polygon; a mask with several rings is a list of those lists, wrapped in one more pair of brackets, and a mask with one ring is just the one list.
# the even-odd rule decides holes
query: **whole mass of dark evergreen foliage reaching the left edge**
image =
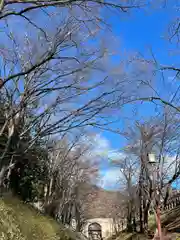
{"label": "whole mass of dark evergreen foliage reaching the left edge", "polygon": [[[3,108],[0,111],[0,129],[5,123]],[[29,148],[31,133],[27,132],[19,138],[18,131],[8,139],[8,129],[0,136],[0,165],[7,165],[4,177],[4,187],[18,195],[24,201],[40,200],[43,197],[43,187],[47,176],[45,161],[47,153],[43,143],[35,142]],[[9,144],[9,145],[8,145]],[[12,169],[8,165],[14,164]]]}

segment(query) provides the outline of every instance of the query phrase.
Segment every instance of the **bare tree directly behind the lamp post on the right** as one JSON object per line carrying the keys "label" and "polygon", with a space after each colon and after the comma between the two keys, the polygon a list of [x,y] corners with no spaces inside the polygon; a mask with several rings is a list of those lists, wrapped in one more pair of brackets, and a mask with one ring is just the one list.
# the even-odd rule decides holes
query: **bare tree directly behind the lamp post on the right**
{"label": "bare tree directly behind the lamp post on the right", "polygon": [[[136,186],[139,191],[141,231],[148,229],[148,213],[151,206],[156,211],[162,200],[167,200],[168,189],[179,177],[179,124],[173,113],[166,109],[162,115],[149,122],[136,124],[136,128],[130,129],[129,134],[126,134],[131,136],[126,155],[131,154],[136,156],[135,159],[139,159],[136,162],[139,169]],[[154,153],[156,158],[153,165],[149,159],[151,153]],[[122,169],[125,172],[125,169],[128,171],[129,168],[124,166]]]}

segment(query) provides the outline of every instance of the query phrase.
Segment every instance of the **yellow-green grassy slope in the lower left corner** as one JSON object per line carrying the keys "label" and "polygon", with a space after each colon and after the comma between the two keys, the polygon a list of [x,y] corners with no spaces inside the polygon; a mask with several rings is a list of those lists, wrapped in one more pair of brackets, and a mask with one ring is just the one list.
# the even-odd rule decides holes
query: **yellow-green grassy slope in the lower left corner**
{"label": "yellow-green grassy slope in the lower left corner", "polygon": [[6,197],[0,199],[0,239],[75,240],[77,236],[31,206]]}

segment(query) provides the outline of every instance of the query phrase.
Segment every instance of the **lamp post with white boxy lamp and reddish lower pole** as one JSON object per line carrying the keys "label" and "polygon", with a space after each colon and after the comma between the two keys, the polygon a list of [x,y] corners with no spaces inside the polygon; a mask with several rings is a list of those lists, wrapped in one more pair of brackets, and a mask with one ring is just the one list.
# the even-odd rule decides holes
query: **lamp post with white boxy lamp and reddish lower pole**
{"label": "lamp post with white boxy lamp and reddish lower pole", "polygon": [[[161,229],[161,213],[160,213],[160,193],[158,190],[158,179],[159,179],[159,174],[158,174],[158,169],[156,168],[156,157],[154,153],[148,154],[148,161],[150,165],[150,172],[151,172],[151,180],[153,182],[153,191],[155,194],[155,217],[156,217],[156,223],[157,223],[157,229],[158,229],[158,235],[159,239],[162,239],[162,229]],[[156,202],[157,198],[157,202]]]}

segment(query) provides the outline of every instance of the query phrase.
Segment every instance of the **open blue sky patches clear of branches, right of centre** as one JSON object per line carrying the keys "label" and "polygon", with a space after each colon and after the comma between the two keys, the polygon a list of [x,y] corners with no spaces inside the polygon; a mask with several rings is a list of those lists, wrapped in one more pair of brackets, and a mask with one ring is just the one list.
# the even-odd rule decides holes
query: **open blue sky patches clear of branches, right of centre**
{"label": "open blue sky patches clear of branches, right of centre", "polygon": [[[178,12],[172,5],[167,8],[154,8],[144,10],[134,10],[128,15],[124,14],[108,14],[113,34],[119,39],[118,55],[112,57],[112,61],[118,64],[123,58],[119,56],[119,52],[138,52],[144,57],[150,58],[150,49],[152,49],[157,61],[163,65],[171,65],[178,63],[178,56],[172,53],[177,49],[176,44],[168,41],[168,27],[172,20],[177,16]],[[168,73],[167,78],[171,77]],[[173,75],[172,75],[173,76]],[[160,86],[161,88],[161,86]],[[132,106],[126,106],[124,112],[131,116]],[[155,108],[152,104],[145,103],[139,107],[136,119],[145,119],[155,114]],[[128,124],[132,122],[129,121]],[[115,127],[123,128],[123,121],[116,123]],[[126,140],[123,136],[111,132],[102,132],[101,137],[108,142],[110,152],[122,149]],[[118,188],[118,170],[112,168],[109,160],[104,158],[100,171],[103,187],[107,189]]]}

